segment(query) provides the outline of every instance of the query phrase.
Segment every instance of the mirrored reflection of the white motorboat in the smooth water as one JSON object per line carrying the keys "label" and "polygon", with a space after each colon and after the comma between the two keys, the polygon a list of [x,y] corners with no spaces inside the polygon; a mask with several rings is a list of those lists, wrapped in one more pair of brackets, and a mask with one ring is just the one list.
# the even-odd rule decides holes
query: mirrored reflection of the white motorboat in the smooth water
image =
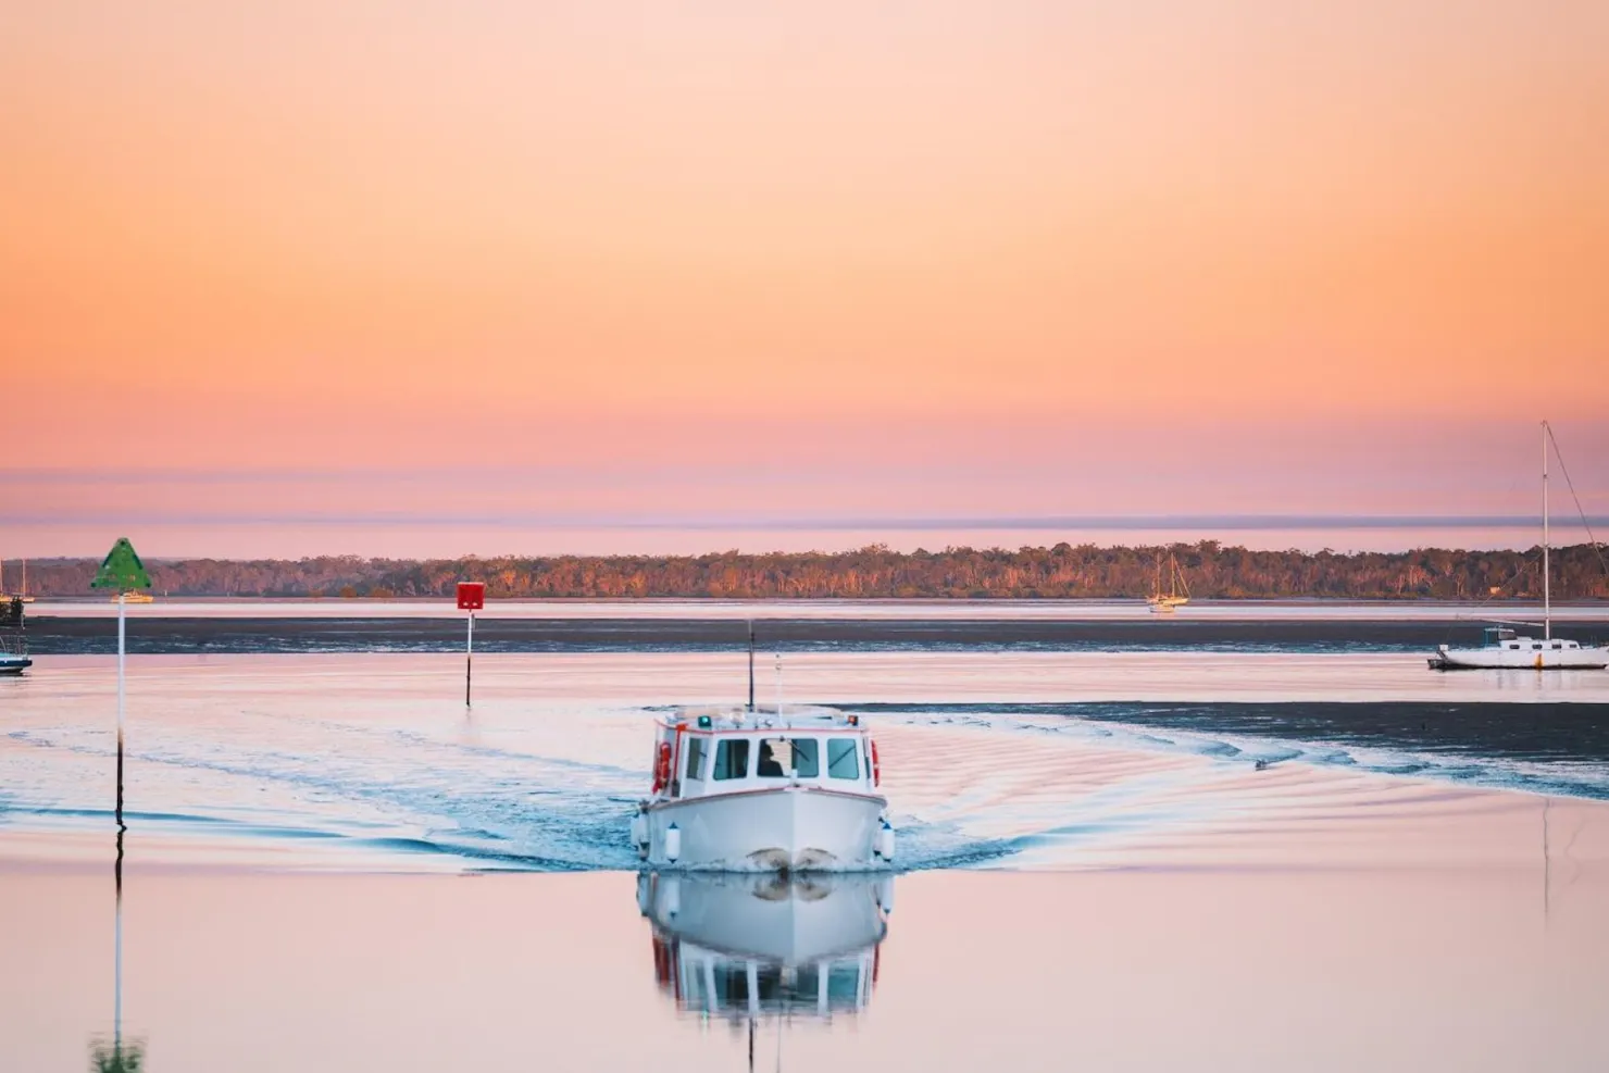
{"label": "mirrored reflection of the white motorboat in the smooth water", "polygon": [[637,907],[677,1009],[753,1028],[870,1002],[893,877],[644,872]]}

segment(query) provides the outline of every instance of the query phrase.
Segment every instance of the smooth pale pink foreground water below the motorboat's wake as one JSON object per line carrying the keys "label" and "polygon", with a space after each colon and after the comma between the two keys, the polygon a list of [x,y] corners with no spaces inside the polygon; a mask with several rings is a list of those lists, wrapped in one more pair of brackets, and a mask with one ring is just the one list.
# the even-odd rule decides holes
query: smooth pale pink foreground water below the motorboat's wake
{"label": "smooth pale pink foreground water below the motorboat's wake", "polygon": [[119,970],[109,862],[8,872],[0,1063],[77,1071],[117,1038],[163,1073],[1599,1070],[1609,886],[1554,882],[927,872],[883,923],[856,890],[724,923],[682,890],[666,928],[628,874],[130,865]]}

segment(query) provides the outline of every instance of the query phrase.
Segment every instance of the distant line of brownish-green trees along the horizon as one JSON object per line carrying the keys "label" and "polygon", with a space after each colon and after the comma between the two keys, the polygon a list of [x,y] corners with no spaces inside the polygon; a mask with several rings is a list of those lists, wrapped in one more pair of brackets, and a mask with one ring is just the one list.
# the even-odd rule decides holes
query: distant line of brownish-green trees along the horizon
{"label": "distant line of brownish-green trees along the horizon", "polygon": [[[148,561],[154,592],[185,597],[447,598],[459,581],[484,581],[489,598],[1065,598],[1142,597],[1158,563],[1178,557],[1202,598],[1352,600],[1541,598],[1541,552],[1253,552],[1216,541],[1158,547],[1093,544],[1006,549],[750,555],[552,555],[455,560],[320,557]],[[90,594],[95,560],[29,563],[29,589]],[[6,584],[16,586],[14,561]],[[1609,598],[1609,571],[1591,544],[1553,549],[1558,600]]]}

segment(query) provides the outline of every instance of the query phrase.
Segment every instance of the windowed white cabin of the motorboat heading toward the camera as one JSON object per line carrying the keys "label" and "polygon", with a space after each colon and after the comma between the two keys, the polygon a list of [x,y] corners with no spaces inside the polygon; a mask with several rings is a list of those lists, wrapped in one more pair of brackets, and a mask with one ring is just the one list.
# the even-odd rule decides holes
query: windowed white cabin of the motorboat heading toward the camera
{"label": "windowed white cabin of the motorboat heading toward the camera", "polygon": [[872,793],[882,782],[877,745],[858,716],[827,708],[687,709],[660,721],[655,800],[766,790],[785,782]]}

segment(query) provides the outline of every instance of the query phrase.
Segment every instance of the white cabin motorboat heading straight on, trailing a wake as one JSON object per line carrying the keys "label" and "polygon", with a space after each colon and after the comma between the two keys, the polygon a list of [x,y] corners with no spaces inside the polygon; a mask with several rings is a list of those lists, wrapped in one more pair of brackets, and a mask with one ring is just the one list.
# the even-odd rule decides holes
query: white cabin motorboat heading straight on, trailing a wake
{"label": "white cabin motorboat heading straight on, trailing a wake", "polygon": [[631,838],[652,867],[854,872],[893,862],[877,745],[829,708],[689,708],[658,721]]}

